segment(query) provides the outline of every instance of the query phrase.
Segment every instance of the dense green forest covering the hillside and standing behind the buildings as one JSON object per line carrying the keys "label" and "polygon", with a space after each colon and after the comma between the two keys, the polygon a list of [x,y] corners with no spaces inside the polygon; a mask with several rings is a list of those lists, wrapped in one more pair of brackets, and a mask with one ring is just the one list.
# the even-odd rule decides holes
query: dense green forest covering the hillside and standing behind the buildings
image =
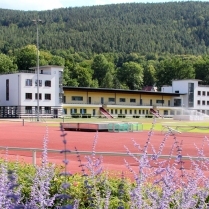
{"label": "dense green forest covering the hillside and standing behind the buildings", "polygon": [[36,65],[37,28],[40,65],[64,66],[64,85],[142,89],[187,78],[209,84],[209,2],[0,9],[0,73]]}

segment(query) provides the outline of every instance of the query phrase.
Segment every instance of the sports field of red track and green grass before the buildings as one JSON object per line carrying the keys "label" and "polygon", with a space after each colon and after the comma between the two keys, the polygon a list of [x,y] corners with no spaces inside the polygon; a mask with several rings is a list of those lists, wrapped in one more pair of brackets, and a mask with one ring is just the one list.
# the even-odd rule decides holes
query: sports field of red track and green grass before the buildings
{"label": "sports field of red track and green grass before the buildings", "polygon": [[[71,119],[74,122],[76,119]],[[77,119],[78,120],[78,119]],[[95,119],[94,119],[95,120]],[[205,137],[209,137],[209,122],[174,122],[171,119],[156,119],[154,130],[150,135],[149,131],[153,123],[153,119],[127,119],[129,122],[141,122],[143,123],[144,130],[142,132],[77,132],[67,131],[67,148],[74,151],[75,147],[78,151],[92,151],[92,146],[95,136],[97,136],[96,152],[117,152],[118,155],[126,153],[124,146],[126,146],[133,153],[141,153],[136,147],[134,147],[133,140],[137,142],[143,149],[146,142],[149,140],[148,153],[152,154],[152,147],[158,151],[162,145],[162,141],[165,141],[163,145],[162,155],[168,155],[171,147],[174,144],[174,140],[177,139],[179,144],[182,142],[182,155],[183,156],[197,156],[197,147],[201,147]],[[122,121],[126,121],[122,119]],[[95,122],[91,119],[84,120],[85,122]],[[107,121],[107,119],[96,119],[97,122]],[[60,122],[61,119],[48,120],[46,122],[30,122],[27,120],[1,120],[0,121],[0,146],[1,147],[20,147],[20,148],[39,148],[43,147],[43,138],[46,132],[48,132],[48,149],[62,150],[63,143],[60,137]],[[79,120],[81,122],[81,120]],[[165,139],[165,135],[162,134],[162,127],[164,125],[170,125],[174,127],[176,125],[191,125],[191,127],[206,127],[195,128],[194,130],[182,131],[181,134],[171,135]],[[185,129],[186,130],[186,129]],[[208,143],[206,143],[208,144]],[[205,145],[205,153],[209,153],[209,146]],[[8,158],[24,162],[32,162],[31,151],[8,151]],[[176,153],[174,152],[173,155]],[[85,156],[80,155],[83,163],[86,162]],[[5,149],[1,149],[1,157],[5,157]],[[60,153],[48,153],[49,161],[62,164],[63,156]],[[208,156],[209,157],[209,156]],[[68,155],[70,160],[68,170],[71,173],[80,172],[79,163],[75,154]],[[40,163],[41,153],[37,153],[37,163]],[[111,171],[124,171],[128,174],[128,169],[124,164],[126,159],[131,167],[137,171],[137,163],[134,159],[128,156],[106,156],[103,155],[103,168],[104,170]],[[185,168],[189,169],[189,163],[185,163]],[[127,172],[126,172],[127,171]]]}

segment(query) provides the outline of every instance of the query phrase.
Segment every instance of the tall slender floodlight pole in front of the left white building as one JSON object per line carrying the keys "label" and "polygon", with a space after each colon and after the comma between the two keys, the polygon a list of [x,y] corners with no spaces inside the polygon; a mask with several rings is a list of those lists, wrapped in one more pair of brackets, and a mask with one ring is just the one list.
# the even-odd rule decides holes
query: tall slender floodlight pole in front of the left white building
{"label": "tall slender floodlight pole in front of the left white building", "polygon": [[39,121],[39,36],[38,36],[38,24],[42,22],[40,19],[33,20],[36,25],[36,47],[37,47],[37,121]]}

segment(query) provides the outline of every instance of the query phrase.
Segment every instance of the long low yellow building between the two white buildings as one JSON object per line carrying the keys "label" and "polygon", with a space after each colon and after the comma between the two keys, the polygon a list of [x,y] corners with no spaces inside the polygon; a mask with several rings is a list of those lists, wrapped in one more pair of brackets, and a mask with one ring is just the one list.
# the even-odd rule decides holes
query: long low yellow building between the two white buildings
{"label": "long low yellow building between the two white buildings", "polygon": [[64,115],[101,116],[104,108],[113,117],[134,117],[149,115],[150,109],[156,108],[159,114],[169,116],[180,108],[174,104],[174,99],[181,97],[179,93],[88,87],[64,87],[63,90]]}

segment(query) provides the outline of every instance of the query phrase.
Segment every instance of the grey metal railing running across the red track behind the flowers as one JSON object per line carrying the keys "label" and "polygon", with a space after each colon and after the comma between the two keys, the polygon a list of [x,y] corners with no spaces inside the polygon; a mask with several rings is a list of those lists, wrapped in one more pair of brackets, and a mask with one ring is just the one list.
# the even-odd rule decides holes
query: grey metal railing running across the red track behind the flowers
{"label": "grey metal railing running across the red track behind the flowers", "polygon": [[[31,152],[31,157],[32,157],[32,164],[36,165],[36,159],[37,159],[37,152],[43,152],[43,149],[39,149],[39,148],[22,148],[22,147],[3,147],[0,146],[0,150],[13,150],[13,151],[29,151]],[[60,153],[61,150],[54,150],[54,149],[47,149],[48,153]],[[92,151],[71,151],[69,154],[70,155],[91,155]],[[127,152],[94,152],[95,155],[102,155],[102,156],[117,156],[117,157],[131,157]],[[141,157],[144,154],[142,153],[131,153],[132,155],[134,155],[135,157]],[[8,154],[9,155],[9,154]],[[148,157],[154,157],[153,154],[147,154]],[[30,157],[30,156],[29,156]],[[177,159],[177,155],[159,155],[158,158],[160,159]],[[209,157],[192,157],[192,156],[182,156],[181,157],[182,160],[209,160]]]}

